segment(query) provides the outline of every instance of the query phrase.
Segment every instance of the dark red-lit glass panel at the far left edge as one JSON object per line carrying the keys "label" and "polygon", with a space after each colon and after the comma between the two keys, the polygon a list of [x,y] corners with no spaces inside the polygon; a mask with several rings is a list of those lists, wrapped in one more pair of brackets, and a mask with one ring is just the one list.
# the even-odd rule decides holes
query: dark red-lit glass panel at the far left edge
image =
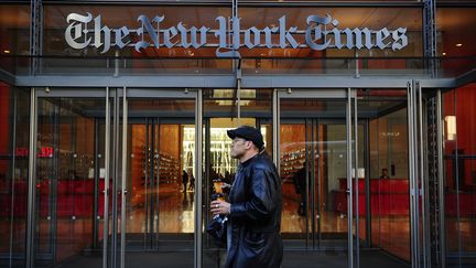
{"label": "dark red-lit glass panel at the far left edge", "polygon": [[25,265],[30,92],[0,82],[0,266]]}

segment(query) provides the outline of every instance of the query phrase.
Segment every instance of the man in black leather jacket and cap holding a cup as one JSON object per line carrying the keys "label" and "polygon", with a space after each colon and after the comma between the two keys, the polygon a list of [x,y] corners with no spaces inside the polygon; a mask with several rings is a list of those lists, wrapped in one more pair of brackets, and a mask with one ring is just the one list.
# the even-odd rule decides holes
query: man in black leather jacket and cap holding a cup
{"label": "man in black leather jacket and cap holding a cup", "polygon": [[213,201],[213,214],[228,215],[226,267],[281,266],[281,182],[263,150],[263,138],[256,128],[228,130],[231,157],[239,160],[228,202]]}

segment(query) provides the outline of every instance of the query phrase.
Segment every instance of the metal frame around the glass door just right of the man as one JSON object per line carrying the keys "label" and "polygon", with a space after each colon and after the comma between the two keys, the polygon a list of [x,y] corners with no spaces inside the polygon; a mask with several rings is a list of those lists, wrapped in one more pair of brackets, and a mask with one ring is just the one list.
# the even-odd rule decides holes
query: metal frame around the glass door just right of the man
{"label": "metal frame around the glass door just right of the man", "polygon": [[[356,232],[356,238],[353,236],[354,229],[354,212],[353,212],[353,167],[357,167],[358,163],[358,118],[357,118],[357,94],[353,88],[346,89],[274,89],[273,93],[273,161],[280,170],[280,104],[281,99],[337,99],[346,101],[346,144],[347,144],[347,267],[354,268],[359,267],[359,237],[358,232]],[[353,130],[355,131],[353,133]],[[306,132],[307,136],[307,132]],[[351,144],[351,139],[355,139],[354,148]],[[355,150],[353,153],[353,149]],[[354,156],[353,156],[354,154]],[[357,170],[356,170],[357,172]],[[355,180],[356,185],[358,185],[358,176]],[[356,187],[356,194],[358,196],[358,187]],[[358,200],[356,201],[358,202]],[[356,203],[358,213],[358,203]],[[356,214],[358,215],[358,214]],[[358,216],[356,217],[356,226],[358,231]],[[354,243],[356,248],[354,249]]]}

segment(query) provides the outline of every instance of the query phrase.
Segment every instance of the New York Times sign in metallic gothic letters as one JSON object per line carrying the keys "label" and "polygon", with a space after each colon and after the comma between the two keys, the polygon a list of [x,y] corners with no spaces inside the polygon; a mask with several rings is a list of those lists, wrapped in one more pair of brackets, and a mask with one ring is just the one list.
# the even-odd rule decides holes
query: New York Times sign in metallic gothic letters
{"label": "New York Times sign in metallic gothic letters", "polygon": [[[387,28],[374,29],[339,29],[339,22],[331,15],[310,15],[306,18],[306,29],[288,26],[285,15],[279,19],[279,26],[258,29],[251,26],[241,29],[241,18],[216,18],[217,28],[185,26],[178,22],[176,26],[161,28],[164,15],[155,15],[151,20],[145,15],[138,17],[137,29],[121,26],[110,29],[101,22],[101,15],[93,19],[86,15],[71,13],[66,21],[68,26],[65,39],[69,46],[83,50],[87,46],[101,49],[106,53],[110,49],[121,50],[132,46],[141,52],[145,47],[216,47],[217,57],[239,57],[240,47],[267,47],[267,49],[300,49],[310,47],[316,51],[326,49],[345,50],[393,50],[399,51],[408,45],[407,28],[389,30]],[[208,35],[215,35],[214,43],[207,42]],[[305,35],[305,43],[299,43],[298,34]],[[272,39],[272,36],[279,35]],[[134,42],[137,41],[137,42]],[[274,42],[273,42],[274,41]]]}

